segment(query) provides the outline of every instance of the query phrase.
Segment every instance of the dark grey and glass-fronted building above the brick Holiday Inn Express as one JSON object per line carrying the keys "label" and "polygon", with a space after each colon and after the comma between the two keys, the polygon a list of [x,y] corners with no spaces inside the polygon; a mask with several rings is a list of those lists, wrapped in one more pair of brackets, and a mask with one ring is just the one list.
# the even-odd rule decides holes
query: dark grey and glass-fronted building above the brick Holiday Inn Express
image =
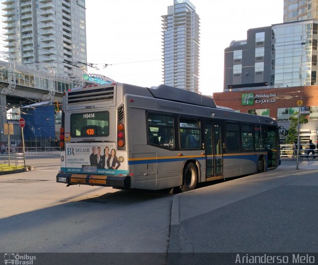
{"label": "dark grey and glass-fronted building above the brick Holiday Inn Express", "polygon": [[225,49],[224,90],[317,85],[318,20],[247,31]]}

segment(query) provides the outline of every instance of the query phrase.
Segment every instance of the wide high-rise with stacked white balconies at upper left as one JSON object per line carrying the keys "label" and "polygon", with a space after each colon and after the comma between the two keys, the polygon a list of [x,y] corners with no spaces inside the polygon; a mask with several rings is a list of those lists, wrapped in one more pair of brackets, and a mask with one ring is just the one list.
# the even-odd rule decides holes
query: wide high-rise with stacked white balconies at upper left
{"label": "wide high-rise with stacked white balconies at upper left", "polygon": [[73,62],[87,61],[85,0],[1,0],[1,9],[2,43],[16,63],[81,73]]}

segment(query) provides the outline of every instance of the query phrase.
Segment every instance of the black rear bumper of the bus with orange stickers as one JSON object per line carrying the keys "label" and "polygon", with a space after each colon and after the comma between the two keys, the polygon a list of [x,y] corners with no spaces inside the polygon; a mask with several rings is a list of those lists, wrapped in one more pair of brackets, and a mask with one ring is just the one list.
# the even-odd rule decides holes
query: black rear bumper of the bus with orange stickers
{"label": "black rear bumper of the bus with orange stickers", "polygon": [[130,188],[130,176],[102,176],[72,173],[58,173],[56,182],[69,185],[91,185]]}

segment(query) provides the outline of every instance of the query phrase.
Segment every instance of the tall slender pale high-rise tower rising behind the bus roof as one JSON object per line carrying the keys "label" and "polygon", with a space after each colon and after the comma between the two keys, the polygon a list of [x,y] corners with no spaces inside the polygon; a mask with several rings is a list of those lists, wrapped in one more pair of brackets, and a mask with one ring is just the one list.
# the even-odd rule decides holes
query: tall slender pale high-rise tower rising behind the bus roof
{"label": "tall slender pale high-rise tower rising behind the bus roof", "polygon": [[188,0],[174,0],[161,17],[163,82],[198,93],[200,18],[195,6]]}

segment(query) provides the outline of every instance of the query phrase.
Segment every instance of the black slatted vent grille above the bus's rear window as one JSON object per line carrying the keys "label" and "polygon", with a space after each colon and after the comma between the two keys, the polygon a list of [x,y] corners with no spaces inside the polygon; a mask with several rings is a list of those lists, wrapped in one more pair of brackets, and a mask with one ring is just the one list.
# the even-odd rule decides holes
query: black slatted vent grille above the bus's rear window
{"label": "black slatted vent grille above the bus's rear window", "polygon": [[109,101],[114,99],[114,87],[106,87],[91,90],[70,91],[68,104],[84,103],[90,101]]}

